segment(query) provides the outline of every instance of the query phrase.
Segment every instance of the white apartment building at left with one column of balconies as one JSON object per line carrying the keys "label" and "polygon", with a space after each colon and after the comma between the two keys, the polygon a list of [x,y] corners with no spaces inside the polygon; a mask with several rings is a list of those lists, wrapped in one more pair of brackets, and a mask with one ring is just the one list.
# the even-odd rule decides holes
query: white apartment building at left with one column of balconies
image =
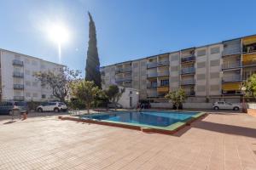
{"label": "white apartment building at left with one column of balconies", "polygon": [[9,50],[0,49],[0,99],[43,101],[54,99],[52,90],[33,74],[38,71],[60,71],[59,65]]}

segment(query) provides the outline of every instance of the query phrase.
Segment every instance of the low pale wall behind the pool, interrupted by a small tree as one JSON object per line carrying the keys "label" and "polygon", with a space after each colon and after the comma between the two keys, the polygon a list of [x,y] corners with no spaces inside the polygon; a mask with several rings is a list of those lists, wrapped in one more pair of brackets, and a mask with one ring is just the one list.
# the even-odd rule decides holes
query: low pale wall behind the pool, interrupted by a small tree
{"label": "low pale wall behind the pool, interrupted by a small tree", "polygon": [[[172,103],[151,103],[152,108],[172,108]],[[183,109],[212,109],[212,103],[183,103]]]}

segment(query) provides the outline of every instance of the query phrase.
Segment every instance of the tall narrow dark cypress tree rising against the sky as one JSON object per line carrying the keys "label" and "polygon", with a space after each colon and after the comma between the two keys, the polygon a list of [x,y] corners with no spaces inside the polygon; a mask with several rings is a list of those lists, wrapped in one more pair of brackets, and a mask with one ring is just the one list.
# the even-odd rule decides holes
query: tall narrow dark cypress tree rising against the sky
{"label": "tall narrow dark cypress tree rising against the sky", "polygon": [[89,42],[87,50],[85,80],[93,81],[97,87],[102,88],[102,77],[100,72],[100,60],[98,56],[97,41],[96,41],[96,26],[92,17],[90,18]]}

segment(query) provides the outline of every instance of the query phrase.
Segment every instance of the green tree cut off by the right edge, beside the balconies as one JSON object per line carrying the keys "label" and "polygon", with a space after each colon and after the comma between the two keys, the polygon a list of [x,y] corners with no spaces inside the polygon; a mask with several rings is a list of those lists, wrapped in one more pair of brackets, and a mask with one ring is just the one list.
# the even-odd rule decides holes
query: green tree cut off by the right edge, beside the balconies
{"label": "green tree cut off by the right edge, beside the balconies", "polygon": [[244,82],[243,87],[246,87],[245,95],[247,97],[256,98],[256,74],[253,74],[251,77]]}

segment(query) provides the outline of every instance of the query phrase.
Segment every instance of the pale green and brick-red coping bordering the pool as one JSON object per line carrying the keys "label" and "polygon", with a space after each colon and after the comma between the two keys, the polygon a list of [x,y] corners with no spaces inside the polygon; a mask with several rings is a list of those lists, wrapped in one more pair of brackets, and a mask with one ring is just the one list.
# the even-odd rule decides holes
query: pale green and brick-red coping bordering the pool
{"label": "pale green and brick-red coping bordering the pool", "polygon": [[[120,112],[120,111],[119,111]],[[127,112],[127,111],[124,111]],[[164,111],[165,112],[165,111]],[[172,112],[172,111],[166,111],[166,112]],[[197,111],[186,111],[186,112],[197,112]],[[95,113],[90,115],[99,115],[99,114],[109,114],[109,112],[103,112],[103,113]],[[88,114],[85,114],[83,116],[86,116]],[[76,122],[88,122],[88,123],[94,123],[94,124],[100,124],[100,125],[107,125],[112,127],[125,127],[135,130],[140,130],[143,132],[148,133],[166,133],[166,134],[173,134],[176,133],[179,129],[190,125],[191,122],[194,122],[195,120],[201,118],[202,116],[206,116],[206,112],[200,111],[199,113],[183,120],[180,122],[173,123],[170,126],[167,127],[157,127],[157,126],[151,126],[151,125],[142,125],[138,123],[129,123],[129,122],[114,122],[114,121],[107,121],[107,120],[96,120],[96,119],[82,119],[80,116],[59,116],[58,118],[61,120],[69,120],[69,121],[76,121]]]}

